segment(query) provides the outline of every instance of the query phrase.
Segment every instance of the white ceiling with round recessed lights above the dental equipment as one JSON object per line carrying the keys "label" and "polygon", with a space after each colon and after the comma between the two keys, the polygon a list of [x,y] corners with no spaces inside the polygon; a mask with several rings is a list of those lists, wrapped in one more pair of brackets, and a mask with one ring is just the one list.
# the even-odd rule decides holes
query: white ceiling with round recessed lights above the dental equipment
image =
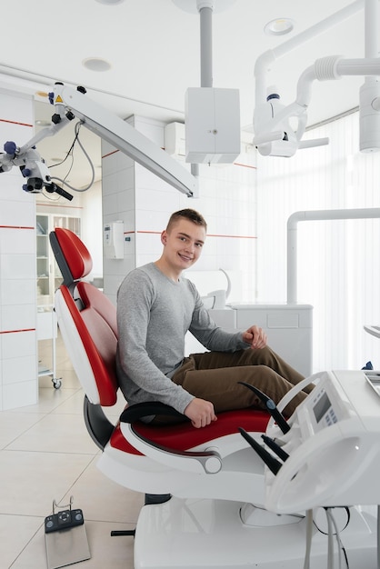
{"label": "white ceiling with round recessed lights above the dental equipment", "polygon": [[[88,96],[123,118],[136,114],[184,121],[185,90],[200,86],[200,18],[196,0],[182,3],[193,13],[172,0],[125,0],[117,5],[97,0],[18,0],[3,19],[0,86],[17,85],[35,94],[55,81],[85,85]],[[347,0],[215,0],[213,86],[239,89],[243,129],[252,130],[257,56],[350,4]],[[265,35],[265,24],[283,17],[294,20],[294,31],[285,37]],[[306,67],[325,55],[363,57],[364,37],[361,10],[277,59],[268,82],[289,104]],[[105,59],[111,69],[85,69],[82,62],[89,57]],[[348,77],[315,84],[308,125],[358,105],[363,81]],[[49,119],[54,108],[40,95],[35,99],[35,118]],[[95,165],[100,165],[99,140],[84,128],[81,133]],[[72,132],[63,131],[38,145],[47,165],[52,158],[65,157],[73,138]],[[96,172],[98,176],[100,170]],[[78,157],[69,175],[71,183],[83,186],[89,177]]]}

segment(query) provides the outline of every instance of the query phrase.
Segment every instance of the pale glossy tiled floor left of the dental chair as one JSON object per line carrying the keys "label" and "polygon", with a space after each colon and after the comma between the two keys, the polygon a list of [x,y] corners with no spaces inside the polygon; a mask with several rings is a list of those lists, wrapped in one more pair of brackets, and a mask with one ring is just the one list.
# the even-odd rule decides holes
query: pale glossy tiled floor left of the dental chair
{"label": "pale glossy tiled floor left of the dental chair", "polygon": [[[39,358],[51,366],[50,342],[39,343]],[[99,449],[85,429],[83,391],[60,338],[56,376],[40,377],[39,403],[0,412],[0,569],[45,569],[45,516],[53,500],[85,514],[91,559],[84,569],[133,569],[133,537],[111,530],[134,529],[144,495],[129,491],[97,468]],[[115,420],[125,402],[112,409]]]}

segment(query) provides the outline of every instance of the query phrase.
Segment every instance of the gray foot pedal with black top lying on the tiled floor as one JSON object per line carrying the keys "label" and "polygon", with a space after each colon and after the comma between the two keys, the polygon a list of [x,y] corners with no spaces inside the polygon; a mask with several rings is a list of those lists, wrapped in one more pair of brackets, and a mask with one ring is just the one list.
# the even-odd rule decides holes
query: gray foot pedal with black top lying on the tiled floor
{"label": "gray foot pedal with black top lying on the tiled floor", "polygon": [[[53,514],[45,517],[45,544],[47,569],[58,569],[90,559],[85,518],[81,509],[70,504],[57,505],[53,501]],[[65,508],[56,512],[58,508]]]}

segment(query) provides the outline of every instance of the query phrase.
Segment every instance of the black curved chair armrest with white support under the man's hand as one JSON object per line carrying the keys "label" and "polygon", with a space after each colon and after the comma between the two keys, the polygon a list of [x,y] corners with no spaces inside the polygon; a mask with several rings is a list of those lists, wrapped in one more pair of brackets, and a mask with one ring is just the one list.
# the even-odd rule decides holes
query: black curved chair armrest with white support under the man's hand
{"label": "black curved chair armrest with white support under the man's hand", "polygon": [[[176,470],[195,474],[216,474],[222,468],[222,458],[215,451],[192,452],[169,448],[146,436],[139,434],[135,424],[146,416],[152,414],[165,414],[187,420],[184,414],[173,407],[159,402],[148,402],[131,405],[120,415],[120,428],[128,443],[132,444],[140,453],[160,464],[165,464]],[[155,428],[155,427],[152,427]],[[157,426],[157,429],[160,427]],[[175,424],[173,425],[175,428]]]}

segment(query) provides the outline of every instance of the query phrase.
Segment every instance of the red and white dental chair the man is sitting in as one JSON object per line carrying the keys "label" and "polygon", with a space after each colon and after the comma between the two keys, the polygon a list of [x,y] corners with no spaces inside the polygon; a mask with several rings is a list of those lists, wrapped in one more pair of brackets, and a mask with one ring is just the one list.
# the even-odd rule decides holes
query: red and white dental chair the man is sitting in
{"label": "red and white dental chair the man is sitting in", "polygon": [[[99,469],[127,488],[145,495],[170,495],[181,504],[188,500],[205,502],[206,507],[210,507],[210,501],[263,504],[263,463],[238,428],[243,427],[258,440],[269,419],[264,411],[219,414],[215,423],[202,429],[195,429],[185,417],[180,424],[150,426],[140,419],[161,412],[176,414],[170,407],[152,402],[126,407],[118,424],[110,423],[103,407],[116,403],[118,391],[115,306],[95,286],[82,280],[91,271],[92,259],[77,235],[56,228],[50,234],[50,243],[63,275],[63,283],[55,293],[55,312],[65,348],[85,392],[86,428],[103,451]],[[163,551],[159,561],[157,551],[151,553],[155,562],[142,553],[151,549],[146,545],[150,539],[147,534],[156,539],[153,536],[159,534],[159,527],[167,527],[164,519],[157,521],[157,516],[169,516],[170,524],[175,525],[176,506],[170,503],[172,499],[159,504],[165,508],[159,515],[155,510],[155,531],[149,512],[143,511],[158,505],[143,507],[135,534],[135,567],[182,566],[178,562],[170,564]],[[190,505],[186,504],[187,512]],[[138,539],[139,532],[144,539]],[[165,549],[165,544],[162,547]]]}

